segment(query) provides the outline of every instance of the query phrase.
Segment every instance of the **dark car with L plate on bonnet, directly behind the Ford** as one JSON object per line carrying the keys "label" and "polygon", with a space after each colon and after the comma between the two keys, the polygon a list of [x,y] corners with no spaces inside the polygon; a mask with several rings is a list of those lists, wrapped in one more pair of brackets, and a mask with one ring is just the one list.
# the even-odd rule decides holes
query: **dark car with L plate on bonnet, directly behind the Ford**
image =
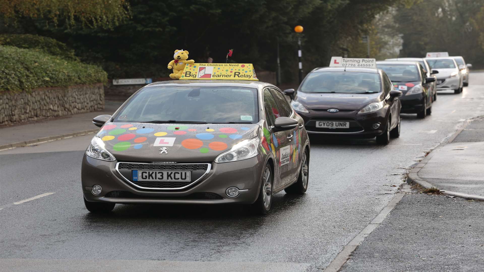
{"label": "dark car with L plate on bonnet, directly behind the Ford", "polygon": [[417,61],[377,61],[377,67],[388,75],[395,88],[402,91],[402,113],[416,113],[425,118],[432,113],[434,96],[432,85],[435,77],[427,77]]}

